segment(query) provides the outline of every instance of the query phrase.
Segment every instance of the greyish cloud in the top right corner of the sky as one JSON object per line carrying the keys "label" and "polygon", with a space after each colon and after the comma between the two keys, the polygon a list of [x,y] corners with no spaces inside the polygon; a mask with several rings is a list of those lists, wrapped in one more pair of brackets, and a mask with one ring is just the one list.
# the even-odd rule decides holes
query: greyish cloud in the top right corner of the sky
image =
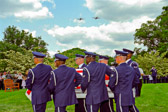
{"label": "greyish cloud in the top right corner of the sky", "polygon": [[84,6],[109,21],[131,21],[148,15],[158,16],[167,0],[86,0]]}

